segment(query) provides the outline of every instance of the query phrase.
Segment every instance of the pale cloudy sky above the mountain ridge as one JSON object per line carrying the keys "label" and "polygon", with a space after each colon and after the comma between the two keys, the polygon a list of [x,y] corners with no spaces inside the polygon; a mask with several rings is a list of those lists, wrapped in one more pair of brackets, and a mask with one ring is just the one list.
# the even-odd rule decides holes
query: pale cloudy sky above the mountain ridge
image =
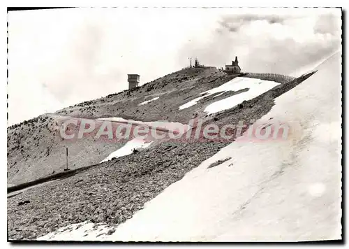
{"label": "pale cloudy sky above the mountain ridge", "polygon": [[297,76],[341,48],[341,10],[71,8],[8,13],[8,125],[188,65]]}

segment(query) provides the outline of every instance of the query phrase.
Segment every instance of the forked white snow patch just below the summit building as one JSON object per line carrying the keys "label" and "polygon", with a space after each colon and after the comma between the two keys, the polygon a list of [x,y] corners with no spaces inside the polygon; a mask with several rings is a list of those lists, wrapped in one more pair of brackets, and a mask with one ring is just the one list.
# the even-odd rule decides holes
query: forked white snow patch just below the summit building
{"label": "forked white snow patch just below the summit building", "polygon": [[[274,81],[255,79],[255,78],[237,77],[219,87],[208,90],[206,92],[202,92],[201,97],[193,99],[188,103],[179,106],[179,110],[198,104],[198,101],[200,101],[200,99],[203,99],[207,96],[210,96],[218,92],[222,92],[221,94],[223,94],[224,92],[228,92],[228,91],[237,92],[239,90],[248,88],[247,92],[242,92],[234,96],[228,97],[226,99],[216,101],[205,108],[205,111],[207,111],[207,113],[209,114],[216,113],[218,111],[223,111],[223,110],[232,108],[234,106],[237,106],[238,104],[242,103],[242,101],[244,100],[248,101],[250,99],[253,99],[254,97],[258,97],[258,95],[264,92],[267,92],[268,90],[271,90],[273,87],[276,87],[276,85],[279,85],[279,83],[276,83]],[[221,94],[216,95],[216,97]]]}

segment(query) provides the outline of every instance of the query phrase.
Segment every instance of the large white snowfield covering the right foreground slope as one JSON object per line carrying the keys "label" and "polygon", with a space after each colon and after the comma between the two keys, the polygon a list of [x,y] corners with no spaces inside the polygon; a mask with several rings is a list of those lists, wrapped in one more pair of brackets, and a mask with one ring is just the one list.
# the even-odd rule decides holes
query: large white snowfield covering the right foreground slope
{"label": "large white snowfield covering the right foreground slope", "polygon": [[[170,185],[112,241],[307,241],[341,238],[341,57],[276,99],[260,119],[285,141],[234,143]],[[211,169],[211,163],[232,159]]]}

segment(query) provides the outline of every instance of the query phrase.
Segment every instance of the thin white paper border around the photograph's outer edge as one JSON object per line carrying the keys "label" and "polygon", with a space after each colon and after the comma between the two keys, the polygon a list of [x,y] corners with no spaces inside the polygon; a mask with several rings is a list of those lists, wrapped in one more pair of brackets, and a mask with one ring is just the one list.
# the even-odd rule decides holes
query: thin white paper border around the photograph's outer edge
{"label": "thin white paper border around the photograph's outer edge", "polygon": [[[136,0],[121,0],[121,1],[106,1],[106,0],[99,0],[99,1],[91,1],[91,0],[79,0],[79,1],[71,1],[71,0],[60,0],[60,1],[43,1],[43,0],[36,0],[36,1],[26,1],[26,0],[20,0],[20,1],[2,1],[0,3],[2,8],[0,9],[0,18],[1,18],[1,31],[0,35],[2,36],[0,41],[1,43],[5,43],[4,45],[6,46],[6,22],[7,22],[7,14],[6,14],[6,6],[12,6],[12,7],[23,7],[23,6],[46,6],[46,7],[57,7],[57,6],[128,6],[128,7],[133,7],[133,6],[166,6],[166,7],[177,7],[177,6],[182,6],[182,7],[193,7],[193,6],[206,6],[206,7],[211,7],[211,6],[220,6],[220,7],[232,7],[232,6],[260,6],[260,7],[290,7],[290,6],[342,6],[344,9],[347,9],[346,6],[348,5],[348,1],[339,1],[339,0],[332,0],[332,1],[304,1],[304,0],[293,0],[293,1],[288,1],[287,3],[282,2],[282,1],[271,1],[271,0],[265,0],[265,1],[251,1],[251,0],[244,0],[244,1],[220,1],[220,0],[215,0],[215,1],[207,1],[207,0],[198,0],[198,1],[188,1],[188,0],[177,0],[177,1],[161,1],[161,0],[152,0],[152,1],[136,1]],[[5,119],[6,113],[7,113],[7,108],[6,108],[6,49],[2,48],[0,50],[0,55],[1,58],[1,78],[3,79],[3,82],[0,84],[0,109],[1,109],[1,129],[0,129],[0,141],[1,141],[1,159],[3,159],[2,162],[6,162],[6,157],[7,155],[7,145],[6,145],[6,127],[7,127],[7,120]],[[345,56],[345,55],[343,55]],[[347,69],[347,66],[346,66]],[[346,96],[348,96],[348,87],[346,87]],[[344,93],[343,93],[344,94]],[[348,116],[348,113],[346,113]],[[3,177],[2,183],[3,187],[1,188],[4,194],[3,199],[5,200],[5,197],[7,196],[6,194],[6,167],[3,165],[1,167],[1,176]],[[348,170],[347,170],[348,171]],[[346,177],[346,176],[345,176]],[[3,203],[6,203],[3,201]],[[1,242],[6,243],[7,241],[7,226],[6,226],[6,205],[1,206]],[[20,245],[13,245],[10,243],[6,243],[6,245],[3,245],[6,248],[8,247],[18,247]],[[29,244],[29,248],[36,248],[38,245],[35,244]],[[49,248],[51,246],[54,246],[50,243],[47,243],[46,245],[41,245],[43,248]],[[73,247],[73,246],[78,246],[78,245],[68,245],[68,248]],[[82,246],[88,246],[88,245],[79,245],[80,247]],[[97,245],[95,245],[97,246]],[[105,246],[103,244],[98,245],[99,246]],[[117,246],[131,246],[131,245],[117,245]],[[143,245],[138,245],[138,246],[143,246]],[[154,245],[147,245],[147,246],[154,246]],[[210,245],[209,247],[216,247],[218,245]],[[237,246],[237,245],[232,245],[232,246]],[[240,246],[240,245],[239,245]],[[247,246],[247,245],[246,245]],[[266,245],[268,246],[268,245]],[[295,246],[297,246],[295,244]],[[67,248],[67,245],[55,245],[55,247],[59,248]],[[184,248],[188,246],[184,246]],[[244,246],[245,247],[245,246]],[[298,246],[299,247],[299,246]],[[301,246],[302,247],[302,246]],[[325,246],[327,247],[327,246]],[[331,246],[328,246],[331,247]]]}

